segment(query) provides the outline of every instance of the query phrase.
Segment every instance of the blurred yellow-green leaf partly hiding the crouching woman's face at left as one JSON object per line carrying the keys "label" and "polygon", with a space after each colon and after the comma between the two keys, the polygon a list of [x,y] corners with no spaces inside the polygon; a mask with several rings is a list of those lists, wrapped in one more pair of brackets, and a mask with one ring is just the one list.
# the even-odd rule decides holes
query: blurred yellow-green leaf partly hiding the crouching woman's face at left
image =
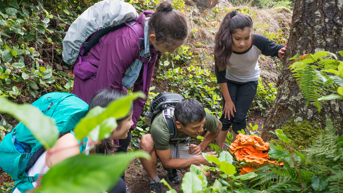
{"label": "blurred yellow-green leaf partly hiding the crouching woman's face at left", "polygon": [[91,109],[76,125],[74,129],[76,138],[82,139],[106,118],[115,117],[119,119],[125,117],[131,110],[132,101],[138,97],[145,99],[146,95],[143,92],[134,92],[132,95],[127,95],[112,101],[105,108],[98,106]]}

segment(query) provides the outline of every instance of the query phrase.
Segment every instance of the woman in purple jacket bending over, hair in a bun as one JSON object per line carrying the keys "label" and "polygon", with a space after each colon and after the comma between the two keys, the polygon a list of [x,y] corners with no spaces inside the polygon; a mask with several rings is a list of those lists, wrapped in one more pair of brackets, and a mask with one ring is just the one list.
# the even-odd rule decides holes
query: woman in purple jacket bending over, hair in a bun
{"label": "woman in purple jacket bending over, hair in a bun", "polygon": [[[83,59],[99,60],[99,63],[90,62],[97,68],[94,77],[81,79],[77,74],[75,76],[72,93],[86,103],[89,103],[92,96],[102,89],[114,89],[127,93],[127,89],[122,85],[122,79],[131,63],[139,57],[141,50],[139,38],[144,38],[146,21],[149,21],[148,39],[151,59],[143,64],[145,68],[144,70],[142,68],[134,82],[133,92],[143,91],[148,95],[157,55],[160,58],[162,53],[174,53],[175,49],[185,42],[188,34],[186,17],[181,12],[173,10],[170,1],[159,4],[156,12],[144,11],[132,21],[134,24],[131,27],[124,26],[101,37],[90,52],[82,56]],[[157,65],[158,63],[157,60]],[[131,130],[136,127],[145,102],[146,100],[141,98],[134,101],[132,115],[134,124]],[[130,141],[131,132],[126,139],[116,141],[120,146],[118,151],[126,152]]]}

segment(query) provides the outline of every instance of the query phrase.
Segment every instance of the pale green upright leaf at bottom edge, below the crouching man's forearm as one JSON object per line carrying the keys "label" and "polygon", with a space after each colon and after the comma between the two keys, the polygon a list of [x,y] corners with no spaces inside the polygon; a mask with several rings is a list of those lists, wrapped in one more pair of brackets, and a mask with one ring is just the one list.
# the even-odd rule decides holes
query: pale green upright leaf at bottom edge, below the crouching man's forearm
{"label": "pale green upright leaf at bottom edge, below the crouching man's forearm", "polygon": [[202,190],[202,181],[194,172],[187,172],[182,178],[181,190],[183,193],[197,193]]}

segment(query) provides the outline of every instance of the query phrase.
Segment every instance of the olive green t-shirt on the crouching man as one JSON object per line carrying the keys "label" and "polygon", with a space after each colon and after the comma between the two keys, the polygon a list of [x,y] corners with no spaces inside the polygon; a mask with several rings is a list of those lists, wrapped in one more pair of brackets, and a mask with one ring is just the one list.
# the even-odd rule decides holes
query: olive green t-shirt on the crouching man
{"label": "olive green t-shirt on the crouching man", "polygon": [[[209,112],[206,112],[205,123],[203,128],[208,130],[211,133],[215,133],[218,129],[219,123],[216,117],[211,115]],[[183,138],[189,135],[185,134],[184,132],[180,132],[176,130],[176,137],[175,138]],[[177,141],[169,141],[170,139],[170,131],[169,127],[167,126],[166,122],[164,121],[162,112],[157,114],[154,118],[154,121],[151,124],[149,129],[149,133],[151,133],[155,147],[159,150],[167,150],[169,149],[169,144],[176,144]]]}

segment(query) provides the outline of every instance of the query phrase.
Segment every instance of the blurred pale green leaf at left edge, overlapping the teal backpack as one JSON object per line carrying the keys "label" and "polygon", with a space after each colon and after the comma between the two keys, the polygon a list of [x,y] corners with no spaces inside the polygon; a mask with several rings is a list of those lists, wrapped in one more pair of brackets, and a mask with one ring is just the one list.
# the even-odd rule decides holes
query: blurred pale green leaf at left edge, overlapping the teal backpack
{"label": "blurred pale green leaf at left edge, overlapping the teal backpack", "polygon": [[59,138],[55,122],[36,107],[29,104],[16,104],[3,97],[0,97],[0,104],[0,112],[11,114],[21,121],[45,149],[51,148]]}

